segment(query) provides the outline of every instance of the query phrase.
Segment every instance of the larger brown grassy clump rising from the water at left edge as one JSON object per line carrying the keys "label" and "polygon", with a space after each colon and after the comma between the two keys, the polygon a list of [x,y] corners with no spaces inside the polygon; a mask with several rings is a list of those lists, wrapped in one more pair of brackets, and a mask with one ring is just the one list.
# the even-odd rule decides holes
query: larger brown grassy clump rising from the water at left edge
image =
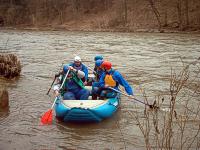
{"label": "larger brown grassy clump rising from the water at left edge", "polygon": [[14,54],[0,53],[0,76],[14,78],[20,75],[21,64]]}

